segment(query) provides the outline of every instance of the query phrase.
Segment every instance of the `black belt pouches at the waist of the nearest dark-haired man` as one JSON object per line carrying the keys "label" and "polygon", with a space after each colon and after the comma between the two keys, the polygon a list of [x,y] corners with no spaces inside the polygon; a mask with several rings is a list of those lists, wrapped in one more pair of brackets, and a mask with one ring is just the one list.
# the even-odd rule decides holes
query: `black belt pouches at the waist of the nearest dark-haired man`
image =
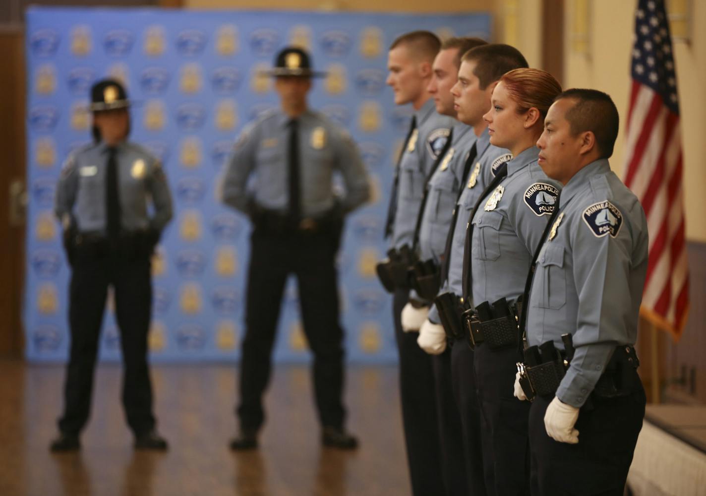
{"label": "black belt pouches at the waist of the nearest dark-haired man", "polygon": [[534,401],[537,396],[553,397],[568,370],[574,354],[571,334],[562,334],[564,349],[554,346],[554,341],[546,341],[539,346],[525,350],[525,361],[517,362],[520,372],[520,386],[525,396]]}

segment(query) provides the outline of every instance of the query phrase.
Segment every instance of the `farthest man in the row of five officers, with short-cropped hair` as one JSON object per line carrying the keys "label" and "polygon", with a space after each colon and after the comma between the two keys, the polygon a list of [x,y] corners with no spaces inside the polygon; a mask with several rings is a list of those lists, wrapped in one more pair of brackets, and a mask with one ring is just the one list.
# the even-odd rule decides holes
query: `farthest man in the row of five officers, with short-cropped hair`
{"label": "farthest man in the row of five officers, with short-cropped hair", "polygon": [[[395,104],[412,104],[414,108],[395,168],[385,222],[385,237],[391,238],[391,250],[395,253],[411,252],[425,185],[454,123],[450,117],[436,113],[434,100],[427,90],[433,60],[440,47],[441,42],[433,33],[413,31],[397,37],[388,52],[387,83],[395,93]],[[402,424],[412,492],[414,495],[441,495],[444,485],[431,358],[417,346],[417,333],[404,332],[402,328],[402,319],[406,316],[411,321],[407,329],[419,329],[426,318],[426,307],[424,302],[409,300],[409,285],[406,281],[398,282],[394,289],[393,321],[400,353]]]}

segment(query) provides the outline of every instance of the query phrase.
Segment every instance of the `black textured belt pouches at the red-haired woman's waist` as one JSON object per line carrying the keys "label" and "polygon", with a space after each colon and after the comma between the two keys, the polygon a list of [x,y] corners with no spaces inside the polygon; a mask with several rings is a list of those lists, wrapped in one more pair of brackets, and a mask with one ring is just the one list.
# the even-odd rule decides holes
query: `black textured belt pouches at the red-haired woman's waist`
{"label": "black textured belt pouches at the red-haired woman's waist", "polygon": [[486,343],[496,350],[506,346],[517,346],[520,333],[517,328],[517,304],[510,305],[505,298],[494,302],[482,302],[475,308],[469,308],[463,313],[465,333],[468,346],[475,349],[479,344]]}

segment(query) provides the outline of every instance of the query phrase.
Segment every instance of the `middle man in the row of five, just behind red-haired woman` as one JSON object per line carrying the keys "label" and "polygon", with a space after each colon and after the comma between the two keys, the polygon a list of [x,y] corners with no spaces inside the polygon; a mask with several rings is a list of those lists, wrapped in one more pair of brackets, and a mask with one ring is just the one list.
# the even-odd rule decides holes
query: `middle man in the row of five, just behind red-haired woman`
{"label": "middle man in the row of five, just behind red-haired woman", "polygon": [[[473,350],[469,348],[461,324],[463,246],[469,214],[493,173],[512,159],[510,151],[490,144],[488,126],[483,115],[491,107],[493,88],[501,76],[512,69],[527,67],[522,54],[509,45],[491,44],[474,47],[462,54],[457,83],[451,88],[457,119],[472,129],[475,140],[468,153],[456,160],[464,163],[461,189],[453,199],[453,219],[445,235],[441,256],[441,303],[432,305],[429,317],[419,331],[419,346],[427,353],[450,353],[450,382],[460,413],[461,441],[465,453],[465,476],[469,493],[486,494],[483,476],[483,449],[480,439],[480,411],[474,381]],[[453,163],[453,160],[452,160]],[[457,167],[450,165],[450,167]],[[444,305],[440,310],[439,306]],[[466,302],[472,307],[472,302]],[[440,312],[448,312],[441,318]],[[449,329],[444,329],[441,324]],[[450,352],[444,352],[450,343]],[[442,355],[443,356],[443,355]]]}

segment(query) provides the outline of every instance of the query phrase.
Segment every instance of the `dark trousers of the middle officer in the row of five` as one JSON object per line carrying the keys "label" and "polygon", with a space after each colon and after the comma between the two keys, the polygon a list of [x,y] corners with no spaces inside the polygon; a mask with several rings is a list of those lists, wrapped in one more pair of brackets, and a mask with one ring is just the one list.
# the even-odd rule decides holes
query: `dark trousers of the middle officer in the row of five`
{"label": "dark trousers of the middle officer in the row of five", "polygon": [[[451,383],[461,420],[463,467],[470,495],[485,495],[483,454],[481,445],[481,412],[476,391],[473,350],[465,339],[454,341],[451,348]],[[488,447],[490,449],[490,446]]]}

